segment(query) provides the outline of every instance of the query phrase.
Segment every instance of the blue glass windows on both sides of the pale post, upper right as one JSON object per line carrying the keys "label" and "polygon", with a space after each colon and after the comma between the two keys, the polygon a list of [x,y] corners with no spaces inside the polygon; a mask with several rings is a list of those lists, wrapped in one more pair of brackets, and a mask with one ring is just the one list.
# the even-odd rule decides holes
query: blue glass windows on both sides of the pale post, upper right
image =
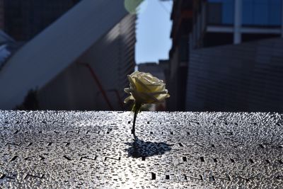
{"label": "blue glass windows on both sides of the pale post, upper right", "polygon": [[[242,0],[243,25],[281,25],[282,0]],[[235,0],[208,0],[209,24],[233,25]]]}

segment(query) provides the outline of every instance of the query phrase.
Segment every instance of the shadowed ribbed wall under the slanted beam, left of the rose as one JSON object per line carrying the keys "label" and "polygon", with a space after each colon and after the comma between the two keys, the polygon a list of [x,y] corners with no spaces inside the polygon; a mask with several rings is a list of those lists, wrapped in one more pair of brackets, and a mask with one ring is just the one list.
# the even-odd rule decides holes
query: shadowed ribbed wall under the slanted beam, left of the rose
{"label": "shadowed ribbed wall under the slanted beam, left of the rose", "polygon": [[40,88],[40,108],[111,110],[91,71],[83,67],[83,63],[89,64],[93,69],[113,110],[122,110],[124,88],[129,85],[127,74],[134,71],[135,21],[136,16],[125,16],[76,62]]}

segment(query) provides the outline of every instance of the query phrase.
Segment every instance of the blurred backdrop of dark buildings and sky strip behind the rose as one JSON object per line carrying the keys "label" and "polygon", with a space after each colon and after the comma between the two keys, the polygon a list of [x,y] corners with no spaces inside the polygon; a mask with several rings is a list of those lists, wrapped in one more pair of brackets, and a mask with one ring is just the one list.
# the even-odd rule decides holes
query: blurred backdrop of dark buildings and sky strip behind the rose
{"label": "blurred backdrop of dark buildings and sky strip behind the rose", "polygon": [[0,0],[1,110],[283,112],[283,0]]}

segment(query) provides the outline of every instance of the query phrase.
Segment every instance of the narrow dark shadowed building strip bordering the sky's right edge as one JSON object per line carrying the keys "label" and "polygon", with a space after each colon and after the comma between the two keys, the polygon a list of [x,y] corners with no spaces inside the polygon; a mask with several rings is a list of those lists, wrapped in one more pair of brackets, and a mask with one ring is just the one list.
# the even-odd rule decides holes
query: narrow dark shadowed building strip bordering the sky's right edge
{"label": "narrow dark shadowed building strip bordering the sky's right edge", "polygon": [[172,47],[169,52],[170,74],[168,88],[168,110],[185,110],[185,86],[187,81],[187,62],[189,50],[189,33],[193,18],[193,1],[173,1],[171,20]]}

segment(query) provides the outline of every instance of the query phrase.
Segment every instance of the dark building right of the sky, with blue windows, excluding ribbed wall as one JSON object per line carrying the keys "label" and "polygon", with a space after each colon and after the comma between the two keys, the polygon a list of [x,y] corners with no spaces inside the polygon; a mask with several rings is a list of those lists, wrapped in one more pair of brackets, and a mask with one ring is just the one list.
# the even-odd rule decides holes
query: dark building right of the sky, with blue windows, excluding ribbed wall
{"label": "dark building right of the sky, with blue windows, excluding ribbed wall", "polygon": [[187,110],[192,50],[282,37],[282,7],[282,0],[174,1],[168,108]]}

